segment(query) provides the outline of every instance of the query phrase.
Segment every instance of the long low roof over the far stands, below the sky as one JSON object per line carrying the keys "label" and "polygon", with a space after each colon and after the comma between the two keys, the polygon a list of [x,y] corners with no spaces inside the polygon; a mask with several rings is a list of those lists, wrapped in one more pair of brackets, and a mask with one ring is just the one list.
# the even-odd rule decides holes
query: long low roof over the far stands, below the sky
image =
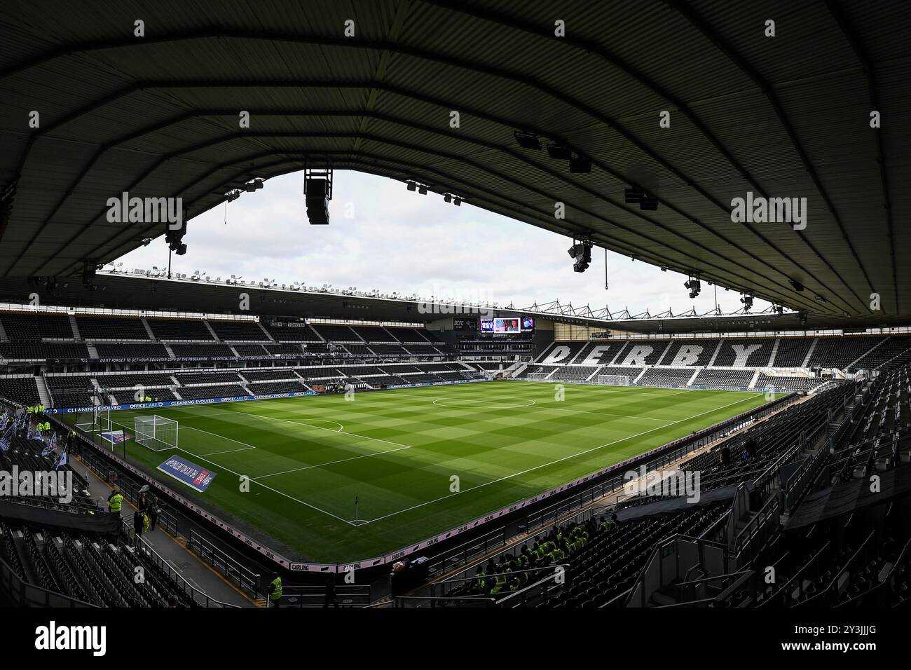
{"label": "long low roof over the far stands, below the sky", "polygon": [[[42,304],[66,305],[111,310],[160,311],[193,314],[241,314],[257,316],[297,316],[306,319],[341,319],[347,321],[391,322],[419,324],[446,318],[489,318],[491,316],[532,315],[540,321],[589,326],[605,331],[672,335],[678,333],[770,333],[800,332],[820,329],[849,329],[863,331],[881,328],[882,317],[859,316],[845,319],[841,315],[809,314],[802,323],[796,313],[770,314],[706,314],[649,317],[641,315],[606,318],[603,313],[585,308],[553,309],[539,305],[514,307],[434,302],[417,296],[366,294],[319,287],[295,288],[285,284],[225,283],[214,280],[148,271],[98,273],[91,287],[79,281],[58,281],[47,291],[43,283],[26,277],[9,277],[0,282],[0,303],[23,305],[22,296],[40,296]],[[241,310],[241,295],[246,294]],[[588,313],[588,314],[587,314]],[[889,325],[911,325],[900,319]]]}

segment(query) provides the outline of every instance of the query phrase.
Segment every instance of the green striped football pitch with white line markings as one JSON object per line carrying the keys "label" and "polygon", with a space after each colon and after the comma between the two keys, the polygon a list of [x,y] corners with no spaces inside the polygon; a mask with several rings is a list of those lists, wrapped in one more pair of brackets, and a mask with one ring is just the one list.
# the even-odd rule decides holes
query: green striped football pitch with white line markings
{"label": "green striped football pitch with white line markings", "polygon": [[[500,381],[121,411],[179,422],[179,448],[130,440],[155,468],[216,473],[198,500],[312,562],[384,555],[765,402],[763,394]],[[118,428],[115,426],[115,428]],[[121,447],[117,448],[118,453]],[[241,490],[241,476],[251,480]],[[357,518],[354,499],[359,500]]]}

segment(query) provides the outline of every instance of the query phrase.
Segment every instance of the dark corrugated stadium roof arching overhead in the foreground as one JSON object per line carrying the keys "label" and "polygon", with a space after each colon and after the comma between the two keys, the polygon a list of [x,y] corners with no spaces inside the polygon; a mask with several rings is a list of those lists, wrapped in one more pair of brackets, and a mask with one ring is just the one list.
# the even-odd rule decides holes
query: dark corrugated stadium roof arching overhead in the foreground
{"label": "dark corrugated stadium roof arching overhead in the foreground", "polygon": [[[74,275],[163,232],[107,222],[122,191],[180,196],[192,217],[253,178],[330,162],[829,320],[911,314],[900,0],[93,7],[0,7],[0,277]],[[630,187],[658,210],[626,204]],[[805,197],[806,228],[732,222],[747,191]]]}

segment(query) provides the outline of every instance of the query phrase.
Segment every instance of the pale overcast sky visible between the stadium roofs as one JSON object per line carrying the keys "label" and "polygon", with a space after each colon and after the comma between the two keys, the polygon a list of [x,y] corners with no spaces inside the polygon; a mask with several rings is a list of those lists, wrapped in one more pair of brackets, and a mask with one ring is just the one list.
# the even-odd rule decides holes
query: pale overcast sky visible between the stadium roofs
{"label": "pale overcast sky visible between the stadium roofs", "polygon": [[[587,272],[574,273],[568,237],[468,202],[455,207],[438,194],[420,195],[400,181],[362,172],[336,170],[331,223],[310,225],[302,184],[302,172],[275,177],[261,191],[230,202],[227,211],[222,204],[191,220],[184,237],[188,251],[173,257],[172,271],[512,302],[517,309],[552,300],[592,309],[608,305],[612,312],[629,307],[633,314],[669,306],[677,314],[693,304],[707,312],[714,306],[707,283],[693,301],[683,287],[685,276],[616,253],[608,253],[605,290],[602,249],[592,253]],[[125,268],[167,266],[164,237],[119,261]],[[734,292],[719,290],[718,300],[725,312],[742,306]],[[757,300],[753,311],[766,305]]]}

